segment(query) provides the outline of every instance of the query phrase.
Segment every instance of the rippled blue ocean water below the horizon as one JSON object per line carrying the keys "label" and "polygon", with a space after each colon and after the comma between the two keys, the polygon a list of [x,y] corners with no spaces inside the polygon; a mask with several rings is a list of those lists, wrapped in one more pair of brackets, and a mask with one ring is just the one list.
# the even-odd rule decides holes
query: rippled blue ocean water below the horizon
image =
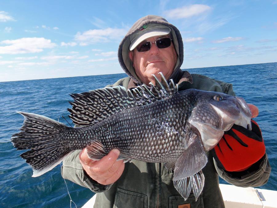
{"label": "rippled blue ocean water below the horizon", "polygon": [[[277,63],[187,69],[233,84],[234,91],[259,108],[255,119],[263,132],[272,172],[263,189],[277,190]],[[32,169],[19,157],[10,142],[23,117],[16,111],[32,112],[58,120],[68,118],[70,93],[86,92],[112,84],[125,74],[82,76],[45,80],[0,82],[0,207],[69,207],[70,198],[61,177],[61,166],[40,177],[31,177]],[[62,118],[60,122],[67,124]],[[220,182],[224,183],[223,180]],[[72,200],[78,207],[94,193],[66,181]]]}

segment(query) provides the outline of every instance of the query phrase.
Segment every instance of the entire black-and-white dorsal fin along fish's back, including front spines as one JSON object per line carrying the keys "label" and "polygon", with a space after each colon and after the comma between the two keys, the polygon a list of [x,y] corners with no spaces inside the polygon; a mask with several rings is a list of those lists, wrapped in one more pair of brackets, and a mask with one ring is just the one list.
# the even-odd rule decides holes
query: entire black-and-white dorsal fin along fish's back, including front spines
{"label": "entire black-and-white dorsal fin along fish's back, including front spines", "polygon": [[71,94],[74,102],[72,105],[70,119],[78,126],[88,126],[108,118],[116,112],[134,106],[147,105],[157,100],[165,99],[178,91],[178,86],[173,80],[167,84],[165,77],[161,74],[161,82],[155,75],[156,85],[151,83],[151,89],[146,85],[138,86],[126,91],[122,86],[107,87],[80,94]]}

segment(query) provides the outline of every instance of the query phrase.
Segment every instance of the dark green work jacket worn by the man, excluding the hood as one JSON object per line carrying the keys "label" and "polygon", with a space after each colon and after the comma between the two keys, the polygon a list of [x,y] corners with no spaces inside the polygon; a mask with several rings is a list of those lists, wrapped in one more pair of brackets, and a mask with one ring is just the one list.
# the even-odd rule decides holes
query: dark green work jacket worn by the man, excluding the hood
{"label": "dark green work jacket worn by the man, excluding the hood", "polygon": [[[193,74],[193,84],[182,79],[186,73],[179,71],[179,90],[195,88],[206,91],[224,92],[235,95],[232,85],[203,75]],[[183,74],[183,76],[181,76]],[[121,85],[132,88],[136,84],[129,77],[118,80],[112,86]],[[62,177],[87,187],[98,193],[94,207],[178,207],[180,204],[190,204],[191,207],[224,207],[219,190],[219,178],[235,186],[261,186],[269,178],[271,167],[265,154],[256,163],[255,170],[243,172],[227,172],[217,167],[210,152],[207,153],[208,162],[203,168],[205,185],[199,199],[195,202],[193,193],[187,201],[179,195],[173,186],[173,171],[167,170],[162,163],[146,163],[133,160],[125,163],[121,177],[114,184],[101,185],[88,177],[79,161],[80,150],[71,153],[63,161]]]}

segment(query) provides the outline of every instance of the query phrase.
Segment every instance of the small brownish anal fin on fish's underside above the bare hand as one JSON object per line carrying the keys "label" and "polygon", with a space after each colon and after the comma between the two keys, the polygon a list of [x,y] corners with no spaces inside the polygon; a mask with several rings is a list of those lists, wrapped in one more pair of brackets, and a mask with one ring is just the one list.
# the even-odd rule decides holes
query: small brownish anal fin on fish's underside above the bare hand
{"label": "small brownish anal fin on fish's underside above the bare hand", "polygon": [[87,156],[92,160],[100,160],[108,153],[105,151],[103,144],[99,140],[94,140],[86,147]]}

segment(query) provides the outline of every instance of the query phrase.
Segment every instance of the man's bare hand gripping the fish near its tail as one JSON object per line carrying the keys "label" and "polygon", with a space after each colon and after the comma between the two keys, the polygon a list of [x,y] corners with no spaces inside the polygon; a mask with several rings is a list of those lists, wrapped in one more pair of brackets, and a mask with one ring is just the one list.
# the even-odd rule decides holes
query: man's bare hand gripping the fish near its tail
{"label": "man's bare hand gripping the fish near its tail", "polygon": [[79,154],[83,169],[92,179],[100,184],[108,185],[118,180],[124,170],[123,160],[116,161],[119,155],[118,149],[113,149],[101,160],[94,161],[88,158],[86,148]]}

